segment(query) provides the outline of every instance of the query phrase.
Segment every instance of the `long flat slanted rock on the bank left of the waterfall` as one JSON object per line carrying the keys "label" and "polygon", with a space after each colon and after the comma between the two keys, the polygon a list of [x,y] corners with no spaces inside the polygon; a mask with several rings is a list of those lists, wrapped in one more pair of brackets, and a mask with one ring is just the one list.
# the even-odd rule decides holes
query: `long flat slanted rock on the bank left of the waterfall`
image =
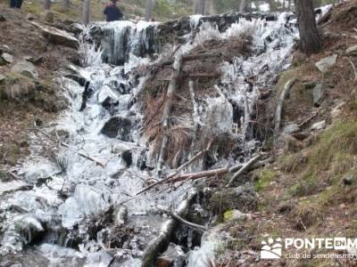
{"label": "long flat slanted rock on the bank left of the waterfall", "polygon": [[36,22],[31,22],[31,24],[39,28],[42,31],[42,34],[46,37],[46,39],[52,44],[62,44],[75,49],[79,47],[78,39],[64,30],[46,25],[41,25]]}

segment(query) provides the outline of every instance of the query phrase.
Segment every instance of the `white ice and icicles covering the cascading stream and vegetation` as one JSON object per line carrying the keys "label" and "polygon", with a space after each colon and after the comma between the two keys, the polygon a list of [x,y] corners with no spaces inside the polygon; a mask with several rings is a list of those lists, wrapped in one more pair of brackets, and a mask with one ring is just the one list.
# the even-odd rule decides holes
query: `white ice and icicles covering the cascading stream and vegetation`
{"label": "white ice and icicles covering the cascading stream and vegetation", "polygon": [[[201,16],[191,17],[195,35],[193,30],[177,55],[185,55],[212,38],[228,41],[243,35],[252,37],[253,51],[246,59],[221,62],[220,85],[215,85],[218,96],[207,95],[197,107],[195,122],[215,134],[240,134],[250,141],[247,124],[260,90],[271,88],[278,72],[290,63],[297,33],[294,27],[286,26],[288,17],[282,13],[276,20],[242,19],[223,32],[209,22],[201,23]],[[145,181],[153,180],[155,172],[156,158],[150,158],[142,136],[144,115],[137,101],[150,74],[140,76],[134,70],[161,60],[156,54],[158,25],[144,21],[96,24],[95,28],[107,34],[101,50],[81,44],[80,53],[87,67],[76,69],[76,75],[84,77],[86,83],[79,85],[62,78],[71,108],[43,129],[62,145],[56,147],[46,135],[33,134],[32,154],[19,173],[33,188],[0,197],[4,214],[0,255],[19,252],[42,236],[36,249],[51,263],[108,266],[115,257],[117,266],[140,265],[143,250],[165,221],[157,214],[156,206],[176,208],[192,188],[187,182],[177,190],[133,198],[146,186]],[[87,30],[90,35],[90,28]],[[247,77],[255,77],[254,85],[245,82]],[[231,101],[245,110],[237,133],[231,132]],[[118,223],[105,221],[104,213],[112,208],[114,214],[119,210],[122,214],[124,205],[128,216],[123,215],[123,222],[130,225],[128,231],[133,234],[119,242],[121,247],[109,247],[118,234]],[[208,257],[213,256],[212,240],[207,242],[187,257],[188,266],[201,266],[197,257],[202,258],[205,250]],[[76,247],[79,250],[72,249]]]}

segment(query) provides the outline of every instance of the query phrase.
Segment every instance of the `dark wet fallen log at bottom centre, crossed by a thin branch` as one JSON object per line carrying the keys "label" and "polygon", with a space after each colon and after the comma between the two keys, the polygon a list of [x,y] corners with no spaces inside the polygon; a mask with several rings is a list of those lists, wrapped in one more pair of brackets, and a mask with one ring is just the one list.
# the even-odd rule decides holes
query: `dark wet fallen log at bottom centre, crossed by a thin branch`
{"label": "dark wet fallen log at bottom centre, crossed by a thin branch", "polygon": [[[196,194],[196,192],[190,194],[187,199],[179,205],[175,214],[182,218],[186,217],[188,209],[191,206],[193,200],[195,199]],[[178,227],[178,225],[179,222],[174,218],[171,218],[170,220],[162,224],[162,230],[159,236],[153,241],[151,241],[144,251],[141,267],[154,266],[154,262],[157,255],[165,251],[165,249],[169,246],[172,234]]]}

